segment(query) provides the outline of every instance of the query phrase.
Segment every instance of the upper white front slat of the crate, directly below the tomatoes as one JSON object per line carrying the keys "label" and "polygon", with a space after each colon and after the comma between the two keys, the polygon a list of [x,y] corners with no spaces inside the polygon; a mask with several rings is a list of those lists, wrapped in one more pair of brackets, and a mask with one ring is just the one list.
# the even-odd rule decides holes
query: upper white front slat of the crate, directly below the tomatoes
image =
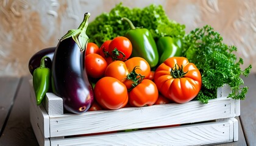
{"label": "upper white front slat of the crate, directly below the tomatoes", "polygon": [[223,119],[230,117],[231,104],[232,99],[219,98],[208,104],[193,101],[115,111],[91,111],[80,115],[50,116],[50,133],[53,137],[69,136]]}

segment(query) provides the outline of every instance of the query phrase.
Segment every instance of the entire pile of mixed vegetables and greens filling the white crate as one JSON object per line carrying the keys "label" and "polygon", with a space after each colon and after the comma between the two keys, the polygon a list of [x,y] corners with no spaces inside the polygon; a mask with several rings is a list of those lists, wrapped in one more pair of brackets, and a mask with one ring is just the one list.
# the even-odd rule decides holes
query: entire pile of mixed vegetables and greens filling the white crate
{"label": "entire pile of mixed vegetables and greens filling the white crate", "polygon": [[[86,13],[79,28],[69,30],[56,48],[41,50],[29,61],[31,74],[41,60],[49,64],[52,92],[63,98],[69,112],[208,103],[225,84],[232,89],[229,97],[245,99],[248,88],[240,87],[241,75],[247,77],[252,66],[242,71],[243,59],[234,54],[237,48],[224,44],[211,26],[186,34],[184,25],[154,4],[143,9],[118,4],[90,24],[89,16]],[[34,84],[40,104],[51,89],[43,88],[40,75],[33,80],[41,82]]]}

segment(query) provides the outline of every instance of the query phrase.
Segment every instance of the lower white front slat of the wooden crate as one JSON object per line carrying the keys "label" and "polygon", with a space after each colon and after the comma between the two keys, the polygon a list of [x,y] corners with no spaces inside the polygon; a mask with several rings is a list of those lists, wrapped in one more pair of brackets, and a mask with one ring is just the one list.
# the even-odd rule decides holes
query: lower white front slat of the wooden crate
{"label": "lower white front slat of the wooden crate", "polygon": [[[232,121],[140,130],[99,136],[53,139],[51,145],[210,145],[233,141]],[[233,127],[233,126],[232,126]],[[237,127],[236,127],[237,128]],[[230,136],[231,134],[231,136]]]}

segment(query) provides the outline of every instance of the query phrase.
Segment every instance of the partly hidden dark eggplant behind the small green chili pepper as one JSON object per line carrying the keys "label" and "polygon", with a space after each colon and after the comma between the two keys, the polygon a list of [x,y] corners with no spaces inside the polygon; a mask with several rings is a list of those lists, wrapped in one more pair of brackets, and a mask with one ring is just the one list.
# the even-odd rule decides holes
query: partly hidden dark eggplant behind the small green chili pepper
{"label": "partly hidden dark eggplant behind the small green chili pepper", "polygon": [[31,75],[33,75],[33,72],[35,69],[37,69],[40,66],[41,58],[44,56],[48,56],[49,58],[45,58],[44,63],[46,68],[51,69],[52,67],[52,58],[54,56],[54,51],[56,47],[48,47],[45,49],[41,49],[38,52],[36,52],[29,60],[29,72]]}

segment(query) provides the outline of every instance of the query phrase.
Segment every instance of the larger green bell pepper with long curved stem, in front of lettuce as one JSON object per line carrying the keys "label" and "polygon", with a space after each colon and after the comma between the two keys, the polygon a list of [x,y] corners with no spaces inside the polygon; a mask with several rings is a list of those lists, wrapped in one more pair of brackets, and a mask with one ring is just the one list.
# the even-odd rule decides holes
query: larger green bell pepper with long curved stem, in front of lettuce
{"label": "larger green bell pepper with long curved stem, in front of lettuce", "polygon": [[157,44],[151,32],[145,28],[136,28],[128,18],[122,18],[122,20],[127,21],[131,29],[124,35],[132,43],[131,57],[142,57],[148,61],[151,68],[154,68],[158,63],[159,57]]}

